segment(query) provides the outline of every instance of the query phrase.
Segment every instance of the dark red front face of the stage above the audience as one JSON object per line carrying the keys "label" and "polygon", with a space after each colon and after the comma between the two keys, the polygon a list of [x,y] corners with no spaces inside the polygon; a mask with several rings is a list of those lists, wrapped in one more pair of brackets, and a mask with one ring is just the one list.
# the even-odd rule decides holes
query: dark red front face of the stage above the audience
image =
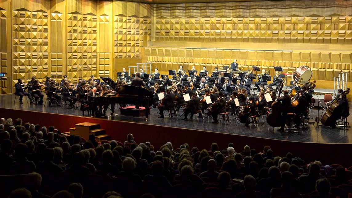
{"label": "dark red front face of the stage above the audience", "polygon": [[126,139],[127,134],[132,133],[136,142],[150,141],[156,149],[159,149],[159,147],[166,142],[171,142],[175,149],[183,143],[188,143],[190,147],[198,147],[199,149],[207,150],[210,149],[210,145],[213,142],[218,143],[220,149],[226,149],[227,144],[232,142],[235,145],[235,150],[238,152],[242,151],[246,144],[248,144],[251,149],[254,148],[257,151],[262,151],[264,146],[269,145],[274,151],[274,156],[285,156],[287,152],[291,152],[294,156],[301,157],[307,163],[319,160],[323,165],[338,163],[344,167],[352,166],[352,157],[350,157],[352,156],[352,144],[291,142],[218,132],[4,108],[0,108],[0,112],[0,117],[12,119],[22,118],[23,123],[30,122],[33,124],[40,124],[41,126],[54,125],[55,128],[59,129],[61,132],[69,131],[70,128],[75,127],[76,123],[100,123],[101,128],[106,129],[107,134],[111,135],[113,140],[123,142]]}

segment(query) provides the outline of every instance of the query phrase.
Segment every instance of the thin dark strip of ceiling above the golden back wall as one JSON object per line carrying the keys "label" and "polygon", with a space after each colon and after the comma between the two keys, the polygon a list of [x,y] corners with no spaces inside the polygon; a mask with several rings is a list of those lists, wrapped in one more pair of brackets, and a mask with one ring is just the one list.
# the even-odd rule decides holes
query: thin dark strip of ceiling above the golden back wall
{"label": "thin dark strip of ceiling above the golden back wall", "polygon": [[[266,1],[266,0],[125,0],[146,4],[186,4],[186,3],[219,3],[219,2],[244,2],[244,1]],[[281,0],[271,0],[281,1]]]}

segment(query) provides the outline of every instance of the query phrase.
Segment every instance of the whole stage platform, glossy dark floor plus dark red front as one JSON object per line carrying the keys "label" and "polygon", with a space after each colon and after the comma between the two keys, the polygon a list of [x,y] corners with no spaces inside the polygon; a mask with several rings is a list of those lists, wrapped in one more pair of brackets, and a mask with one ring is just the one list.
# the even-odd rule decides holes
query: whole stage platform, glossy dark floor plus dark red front
{"label": "whole stage platform, glossy dark floor plus dark red front", "polygon": [[[0,117],[4,118],[22,118],[23,122],[40,124],[41,126],[54,125],[61,132],[69,131],[76,123],[93,122],[100,123],[102,129],[106,129],[107,134],[111,135],[114,140],[123,142],[128,133],[136,137],[137,142],[150,141],[156,149],[164,143],[170,141],[177,148],[180,144],[189,143],[190,147],[209,149],[212,142],[219,144],[220,149],[226,149],[227,144],[235,144],[235,150],[240,152],[248,144],[251,148],[261,151],[263,146],[270,145],[274,150],[274,155],[283,156],[287,152],[293,153],[294,156],[300,156],[306,162],[321,160],[323,163],[341,163],[346,166],[352,165],[352,134],[351,130],[329,129],[325,126],[310,124],[308,129],[296,130],[298,133],[282,133],[274,130],[272,127],[263,124],[262,119],[259,126],[254,125],[245,127],[244,124],[237,124],[235,120],[226,124],[222,120],[219,124],[211,123],[211,119],[202,118],[184,121],[182,119],[170,119],[165,116],[164,119],[158,118],[157,109],[151,109],[150,117],[147,121],[144,117],[122,116],[118,110],[118,104],[115,107],[115,114],[110,116],[110,110],[107,110],[107,116],[102,118],[90,118],[87,112],[82,116],[82,111],[78,109],[68,109],[66,107],[49,107],[48,105],[30,105],[24,97],[24,104],[19,104],[18,98],[15,103],[14,94],[0,95]],[[44,97],[44,101],[46,96]],[[322,109],[319,110],[321,116]],[[350,111],[352,112],[352,111]],[[179,111],[179,115],[182,111]],[[312,117],[316,117],[318,110],[313,109]],[[182,117],[183,118],[183,117]],[[231,116],[231,118],[233,118]],[[265,118],[264,118],[265,119]],[[311,121],[314,122],[314,119]],[[351,116],[348,122],[352,122]],[[330,156],[331,154],[331,156]],[[329,157],[327,157],[329,156]]]}

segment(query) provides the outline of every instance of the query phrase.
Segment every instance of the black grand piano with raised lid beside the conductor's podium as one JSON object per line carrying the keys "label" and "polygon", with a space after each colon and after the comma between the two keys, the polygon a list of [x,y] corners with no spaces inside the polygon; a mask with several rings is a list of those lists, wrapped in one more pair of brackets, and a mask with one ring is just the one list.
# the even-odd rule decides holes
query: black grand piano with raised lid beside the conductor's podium
{"label": "black grand piano with raised lid beside the conductor's podium", "polygon": [[145,120],[149,116],[149,107],[153,104],[153,94],[147,89],[131,85],[117,84],[109,77],[100,77],[103,82],[116,93],[101,96],[92,96],[95,105],[133,104],[145,107]]}

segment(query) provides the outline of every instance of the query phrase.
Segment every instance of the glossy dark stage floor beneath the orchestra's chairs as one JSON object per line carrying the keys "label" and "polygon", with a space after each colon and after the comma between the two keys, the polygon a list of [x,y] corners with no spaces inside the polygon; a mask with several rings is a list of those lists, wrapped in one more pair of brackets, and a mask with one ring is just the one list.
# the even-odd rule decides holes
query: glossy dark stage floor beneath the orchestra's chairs
{"label": "glossy dark stage floor beneath the orchestra's chairs", "polygon": [[[15,95],[14,94],[2,94],[0,95],[0,107],[6,109],[18,109],[18,110],[28,110],[28,111],[38,111],[38,112],[46,112],[46,113],[56,113],[56,114],[64,114],[64,115],[72,115],[72,116],[82,116],[82,111],[78,109],[68,109],[67,106],[61,108],[54,105],[53,107],[49,107],[47,104],[44,105],[34,105],[29,104],[26,101],[26,97],[24,97],[24,104],[19,104],[18,98],[14,103]],[[46,96],[44,96],[44,101]],[[232,123],[227,124],[225,120],[222,120],[219,124],[213,124],[212,119],[208,120],[205,118],[203,121],[202,118],[199,118],[199,122],[197,119],[184,121],[182,120],[183,116],[180,115],[183,113],[182,110],[178,112],[179,118],[177,119],[174,115],[174,118],[170,119],[168,116],[165,116],[164,119],[158,118],[158,110],[151,109],[151,113],[149,119],[147,121],[144,120],[144,117],[132,117],[132,116],[122,116],[120,115],[120,111],[118,110],[119,105],[115,106],[115,114],[118,116],[110,116],[110,110],[107,110],[107,114],[105,117],[101,117],[103,119],[110,120],[119,120],[124,122],[134,122],[134,123],[145,123],[151,125],[160,125],[160,126],[168,126],[175,128],[185,128],[185,129],[195,129],[195,130],[204,130],[204,131],[212,131],[212,132],[220,132],[227,134],[236,134],[236,135],[244,135],[244,136],[252,136],[252,137],[262,137],[262,138],[271,138],[275,140],[286,140],[286,141],[295,141],[295,142],[312,142],[312,143],[352,143],[352,133],[351,130],[342,130],[339,128],[330,129],[325,126],[322,126],[321,123],[319,125],[310,124],[308,125],[308,129],[298,129],[298,133],[289,133],[289,132],[279,132],[276,131],[275,128],[265,123],[263,124],[263,120],[260,118],[259,126],[256,128],[253,124],[250,124],[248,127],[245,127],[243,123],[238,124],[235,120],[232,120]],[[350,105],[350,112],[352,105]],[[318,108],[311,110],[311,116],[314,119],[310,121],[314,122],[315,117],[318,115]],[[321,108],[319,110],[319,117],[322,112],[324,112]],[[154,115],[156,113],[156,115]],[[87,112],[84,112],[84,115],[87,116]],[[19,117],[24,118],[26,115],[20,115]],[[0,117],[6,118],[6,112],[0,112]],[[230,116],[230,118],[233,118]],[[99,119],[97,119],[97,122]],[[265,118],[264,118],[265,120]],[[352,123],[352,117],[348,117],[347,121]],[[39,122],[38,122],[39,123]],[[148,129],[145,129],[148,130]],[[162,132],[162,131],[160,131]],[[191,134],[190,134],[191,135]],[[209,137],[211,138],[211,137]]]}

